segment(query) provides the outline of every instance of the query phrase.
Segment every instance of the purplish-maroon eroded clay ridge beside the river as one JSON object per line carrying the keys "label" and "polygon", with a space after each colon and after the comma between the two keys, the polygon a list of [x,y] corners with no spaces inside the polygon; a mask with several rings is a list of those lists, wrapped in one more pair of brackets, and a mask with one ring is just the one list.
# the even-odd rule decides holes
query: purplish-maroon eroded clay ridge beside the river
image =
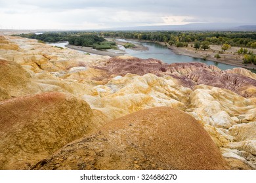
{"label": "purplish-maroon eroded clay ridge beside the river", "polygon": [[127,56],[111,58],[106,62],[105,67],[97,68],[121,76],[127,73],[140,76],[147,73],[157,76],[169,75],[179,80],[180,84],[187,88],[205,84],[231,90],[243,97],[256,96],[256,76],[242,68],[221,71],[218,67],[207,66],[205,63],[199,62],[167,64],[158,59],[140,59]]}

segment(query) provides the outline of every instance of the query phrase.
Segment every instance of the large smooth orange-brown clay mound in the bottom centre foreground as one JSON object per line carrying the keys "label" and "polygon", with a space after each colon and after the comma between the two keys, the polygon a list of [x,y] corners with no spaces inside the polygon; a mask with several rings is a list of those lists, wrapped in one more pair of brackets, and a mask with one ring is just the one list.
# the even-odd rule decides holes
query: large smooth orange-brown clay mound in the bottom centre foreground
{"label": "large smooth orange-brown clay mound in the bottom centre foreground", "polygon": [[169,107],[140,110],[58,150],[33,169],[226,169],[194,118]]}

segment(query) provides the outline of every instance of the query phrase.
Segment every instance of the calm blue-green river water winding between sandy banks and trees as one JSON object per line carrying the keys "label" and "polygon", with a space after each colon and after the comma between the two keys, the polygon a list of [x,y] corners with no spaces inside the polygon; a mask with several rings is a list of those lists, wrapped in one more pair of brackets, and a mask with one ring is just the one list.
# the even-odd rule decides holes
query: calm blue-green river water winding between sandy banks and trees
{"label": "calm blue-green river water winding between sandy banks and trees", "polygon": [[[189,56],[182,56],[182,55],[177,55],[170,49],[168,49],[166,46],[162,46],[160,44],[155,44],[154,42],[137,42],[137,41],[126,41],[125,39],[117,39],[117,41],[125,41],[125,42],[134,42],[137,44],[142,44],[143,46],[148,47],[148,50],[131,50],[129,48],[124,48],[123,46],[119,45],[120,50],[125,50],[127,55],[130,56],[135,56],[137,58],[142,58],[142,59],[148,59],[148,58],[155,58],[155,59],[160,59],[161,61],[165,63],[181,63],[181,62],[202,62],[206,63],[207,65],[215,65],[219,67],[222,70],[226,69],[232,69],[236,66],[233,65],[227,65],[224,63],[217,63],[215,61],[210,61],[210,60],[204,60],[200,58],[192,58]],[[60,46],[60,47],[65,47],[65,45],[68,44],[68,42],[58,42],[58,43],[51,43],[53,46]]]}

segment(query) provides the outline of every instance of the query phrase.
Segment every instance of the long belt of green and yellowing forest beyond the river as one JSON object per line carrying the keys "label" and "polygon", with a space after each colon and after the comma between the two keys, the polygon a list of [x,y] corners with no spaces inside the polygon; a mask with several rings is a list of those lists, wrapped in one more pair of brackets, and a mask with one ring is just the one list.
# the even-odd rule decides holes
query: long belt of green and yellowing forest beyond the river
{"label": "long belt of green and yellowing forest beyond the river", "polygon": [[[256,48],[256,32],[253,31],[58,31],[42,34],[21,34],[20,37],[43,42],[68,41],[75,46],[93,47],[97,50],[116,48],[116,42],[105,38],[137,39],[140,41],[165,42],[169,46],[184,47],[188,44],[196,49],[209,49],[209,45],[221,45],[223,52],[237,46],[242,49]],[[244,54],[244,63],[255,63],[253,52]]]}

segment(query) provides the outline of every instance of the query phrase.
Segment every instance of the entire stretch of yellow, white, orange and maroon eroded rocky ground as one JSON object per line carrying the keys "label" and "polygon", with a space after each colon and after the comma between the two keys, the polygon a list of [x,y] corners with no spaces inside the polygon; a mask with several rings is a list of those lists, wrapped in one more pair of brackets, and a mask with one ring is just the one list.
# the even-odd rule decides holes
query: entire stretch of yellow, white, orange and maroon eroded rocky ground
{"label": "entire stretch of yellow, white, orange and maroon eroded rocky ground", "polygon": [[0,37],[0,169],[255,169],[256,75]]}

